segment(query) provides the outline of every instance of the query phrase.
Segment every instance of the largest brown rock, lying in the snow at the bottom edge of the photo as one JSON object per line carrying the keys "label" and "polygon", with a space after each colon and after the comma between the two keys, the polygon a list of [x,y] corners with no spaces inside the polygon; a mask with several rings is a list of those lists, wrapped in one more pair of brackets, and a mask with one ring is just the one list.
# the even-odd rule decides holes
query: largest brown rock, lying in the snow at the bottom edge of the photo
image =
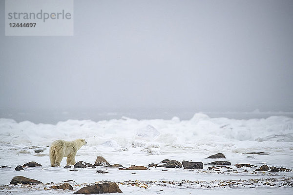
{"label": "largest brown rock, lying in the snow at the bottom edge of the photo", "polygon": [[114,182],[102,183],[102,184],[94,184],[91,186],[84,187],[74,194],[104,194],[104,193],[122,193],[119,186]]}

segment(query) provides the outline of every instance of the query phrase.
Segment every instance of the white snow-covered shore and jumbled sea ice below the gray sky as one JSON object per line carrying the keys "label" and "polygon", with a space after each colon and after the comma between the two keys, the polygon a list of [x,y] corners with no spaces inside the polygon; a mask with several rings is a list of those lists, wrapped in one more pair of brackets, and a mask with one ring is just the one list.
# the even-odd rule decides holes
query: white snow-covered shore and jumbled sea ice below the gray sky
{"label": "white snow-covered shore and jumbled sea ice below the gray sky", "polygon": [[[85,185],[103,180],[117,182],[125,194],[293,194],[293,172],[255,172],[255,168],[234,166],[249,163],[293,169],[293,113],[185,113],[179,117],[171,114],[117,112],[80,117],[82,114],[74,116],[70,111],[60,115],[2,112],[0,166],[11,168],[0,168],[0,194],[73,194]],[[69,172],[72,168],[63,168],[66,158],[61,167],[50,167],[51,142],[76,138],[87,141],[78,151],[76,161],[94,164],[97,156],[104,156],[110,164],[125,167],[147,166],[166,158],[209,163],[216,159],[206,157],[223,153],[226,159],[218,160],[230,161],[232,170],[210,171],[209,166],[215,165],[204,165],[203,170],[151,167],[144,171],[121,171],[98,167]],[[36,148],[44,151],[36,154]],[[247,152],[270,154],[243,154]],[[42,167],[14,170],[29,161]],[[98,174],[98,169],[109,174]],[[43,184],[9,185],[14,176],[37,179]],[[74,180],[69,182],[74,190],[44,189],[70,179]]]}

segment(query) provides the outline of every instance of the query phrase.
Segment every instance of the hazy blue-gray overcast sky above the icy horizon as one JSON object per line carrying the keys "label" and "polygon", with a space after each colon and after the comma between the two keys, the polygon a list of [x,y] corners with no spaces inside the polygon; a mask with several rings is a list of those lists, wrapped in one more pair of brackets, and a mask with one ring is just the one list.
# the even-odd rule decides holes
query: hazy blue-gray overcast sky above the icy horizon
{"label": "hazy blue-gray overcast sky above the icy horizon", "polygon": [[76,0],[73,37],[5,37],[0,108],[293,111],[292,0]]}

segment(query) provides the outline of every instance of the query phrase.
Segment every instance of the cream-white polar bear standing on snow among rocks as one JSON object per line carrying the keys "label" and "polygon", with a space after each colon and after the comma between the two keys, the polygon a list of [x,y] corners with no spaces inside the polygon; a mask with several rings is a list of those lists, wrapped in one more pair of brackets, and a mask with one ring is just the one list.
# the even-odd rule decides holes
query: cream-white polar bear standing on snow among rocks
{"label": "cream-white polar bear standing on snow among rocks", "polygon": [[56,140],[50,146],[49,156],[51,167],[60,166],[62,158],[67,156],[66,166],[75,164],[75,155],[77,151],[86,144],[84,139],[74,141]]}

